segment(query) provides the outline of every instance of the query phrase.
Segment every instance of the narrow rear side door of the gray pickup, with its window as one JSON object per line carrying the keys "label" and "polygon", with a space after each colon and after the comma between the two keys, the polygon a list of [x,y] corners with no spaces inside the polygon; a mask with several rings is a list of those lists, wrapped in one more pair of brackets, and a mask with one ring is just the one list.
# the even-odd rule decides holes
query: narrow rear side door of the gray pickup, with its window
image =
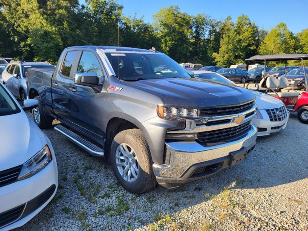
{"label": "narrow rear side door of the gray pickup, with its window", "polygon": [[56,69],[51,83],[52,109],[59,120],[66,124],[71,124],[70,110],[75,110],[78,106],[69,100],[71,93],[70,87],[74,82],[72,68],[74,63],[78,62],[78,54],[80,51],[68,50],[62,54],[65,58],[61,58],[62,63]]}

